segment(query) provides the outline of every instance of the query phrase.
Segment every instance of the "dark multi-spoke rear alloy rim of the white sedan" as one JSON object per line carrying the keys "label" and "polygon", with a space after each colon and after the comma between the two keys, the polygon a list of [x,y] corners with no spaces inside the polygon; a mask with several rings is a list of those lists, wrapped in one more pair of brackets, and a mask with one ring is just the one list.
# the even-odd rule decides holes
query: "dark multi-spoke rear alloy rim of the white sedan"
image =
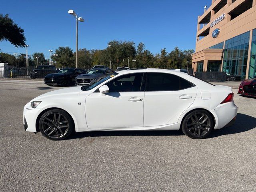
{"label": "dark multi-spoke rear alloy rim of the white sedan", "polygon": [[205,136],[211,128],[210,117],[204,113],[195,113],[189,116],[186,128],[188,133],[196,138]]}

